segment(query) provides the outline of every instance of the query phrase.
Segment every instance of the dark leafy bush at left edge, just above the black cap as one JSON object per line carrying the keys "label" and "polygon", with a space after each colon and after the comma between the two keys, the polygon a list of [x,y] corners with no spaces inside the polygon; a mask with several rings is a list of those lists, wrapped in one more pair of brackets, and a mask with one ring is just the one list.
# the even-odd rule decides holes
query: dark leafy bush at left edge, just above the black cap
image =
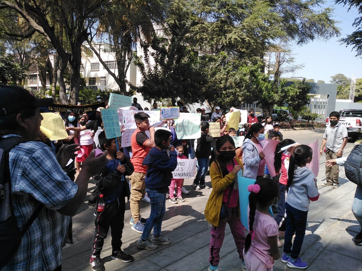
{"label": "dark leafy bush at left edge, just above the black cap", "polygon": [[0,86],[21,84],[28,78],[28,68],[14,61],[12,55],[0,55]]}

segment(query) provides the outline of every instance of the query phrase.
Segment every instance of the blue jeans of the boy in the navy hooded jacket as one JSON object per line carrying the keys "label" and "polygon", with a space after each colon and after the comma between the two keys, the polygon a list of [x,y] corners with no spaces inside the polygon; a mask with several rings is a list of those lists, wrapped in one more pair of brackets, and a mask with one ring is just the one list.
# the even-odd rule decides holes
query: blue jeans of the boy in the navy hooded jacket
{"label": "blue jeans of the boy in the navy hooded jacket", "polygon": [[153,235],[158,237],[161,235],[161,225],[163,215],[166,211],[166,193],[159,193],[156,189],[147,189],[146,192],[150,198],[151,214],[144,225],[142,240],[148,240],[153,228]]}

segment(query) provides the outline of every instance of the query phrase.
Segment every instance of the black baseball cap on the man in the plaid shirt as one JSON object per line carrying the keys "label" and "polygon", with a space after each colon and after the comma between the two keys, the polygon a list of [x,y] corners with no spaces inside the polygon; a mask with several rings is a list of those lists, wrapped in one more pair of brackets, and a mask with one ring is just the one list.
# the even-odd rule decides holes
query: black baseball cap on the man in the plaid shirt
{"label": "black baseball cap on the man in the plaid shirt", "polygon": [[0,87],[0,116],[10,115],[29,107],[45,107],[54,103],[52,98],[35,98],[30,91],[19,86]]}

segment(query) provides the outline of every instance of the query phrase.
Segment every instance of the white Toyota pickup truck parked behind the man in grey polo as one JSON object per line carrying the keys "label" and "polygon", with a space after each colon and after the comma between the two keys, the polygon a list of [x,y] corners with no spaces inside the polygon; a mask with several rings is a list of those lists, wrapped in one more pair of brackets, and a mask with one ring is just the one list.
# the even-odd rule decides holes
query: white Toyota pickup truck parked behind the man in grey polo
{"label": "white Toyota pickup truck parked behind the man in grey polo", "polygon": [[[348,137],[357,139],[362,136],[362,109],[342,109],[339,123],[345,125]],[[329,117],[325,120],[325,126],[329,125]]]}

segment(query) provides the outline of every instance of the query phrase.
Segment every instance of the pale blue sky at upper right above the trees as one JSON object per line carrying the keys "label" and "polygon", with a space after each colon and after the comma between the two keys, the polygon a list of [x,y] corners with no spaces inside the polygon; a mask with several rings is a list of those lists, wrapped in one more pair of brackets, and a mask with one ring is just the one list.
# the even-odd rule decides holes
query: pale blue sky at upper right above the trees
{"label": "pale blue sky at upper right above the trees", "polygon": [[357,78],[362,78],[362,58],[355,57],[355,51],[352,47],[346,47],[340,44],[338,39],[344,38],[347,34],[354,31],[352,23],[358,16],[357,9],[348,11],[347,7],[334,4],[334,1],[327,1],[326,6],[334,8],[334,17],[341,29],[341,35],[324,42],[323,40],[314,40],[302,47],[292,46],[292,53],[296,64],[304,64],[304,68],[296,71],[294,74],[286,73],[282,77],[306,77],[307,79],[324,80],[329,83],[331,76],[342,73],[348,78],[354,74]]}

